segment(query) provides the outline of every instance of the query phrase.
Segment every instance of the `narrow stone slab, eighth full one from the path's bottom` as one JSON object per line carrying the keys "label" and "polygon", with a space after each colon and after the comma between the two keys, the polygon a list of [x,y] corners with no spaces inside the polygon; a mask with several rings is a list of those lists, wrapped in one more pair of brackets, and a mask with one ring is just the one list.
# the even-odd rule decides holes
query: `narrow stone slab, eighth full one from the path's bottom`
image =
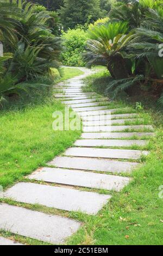
{"label": "narrow stone slab, eighth full one from the path's bottom", "polygon": [[84,126],[83,132],[115,132],[115,131],[123,131],[126,129],[134,129],[134,130],[145,130],[150,129],[153,130],[152,125],[112,125],[112,126]]}

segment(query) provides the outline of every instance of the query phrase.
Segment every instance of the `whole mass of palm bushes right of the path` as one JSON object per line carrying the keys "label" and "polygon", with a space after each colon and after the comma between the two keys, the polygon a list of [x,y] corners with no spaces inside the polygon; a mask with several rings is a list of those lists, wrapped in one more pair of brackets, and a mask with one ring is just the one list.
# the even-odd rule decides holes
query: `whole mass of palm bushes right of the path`
{"label": "whole mass of palm bushes right of the path", "polygon": [[84,56],[87,65],[108,68],[111,77],[106,90],[116,95],[138,89],[140,93],[148,91],[155,99],[161,96],[162,25],[162,0],[124,0],[114,3],[108,23],[90,26]]}

